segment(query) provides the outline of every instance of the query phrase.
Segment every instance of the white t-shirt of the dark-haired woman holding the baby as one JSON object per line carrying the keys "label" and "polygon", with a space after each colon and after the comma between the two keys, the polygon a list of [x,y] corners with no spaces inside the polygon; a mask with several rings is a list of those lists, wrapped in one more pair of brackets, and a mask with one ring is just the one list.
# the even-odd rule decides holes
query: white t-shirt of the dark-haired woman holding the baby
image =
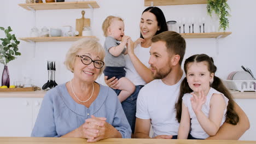
{"label": "white t-shirt of the dark-haired woman holding the baby", "polygon": [[[138,44],[137,47],[135,47],[134,49],[135,55],[148,68],[149,68],[148,60],[150,57],[149,50],[150,50],[150,47],[145,48],[145,47],[142,47],[141,44]],[[136,69],[134,68],[129,55],[125,55],[124,58],[125,58],[125,70],[126,70],[125,77],[129,79],[135,86],[146,85],[146,82],[141,78],[141,76],[139,76]]]}

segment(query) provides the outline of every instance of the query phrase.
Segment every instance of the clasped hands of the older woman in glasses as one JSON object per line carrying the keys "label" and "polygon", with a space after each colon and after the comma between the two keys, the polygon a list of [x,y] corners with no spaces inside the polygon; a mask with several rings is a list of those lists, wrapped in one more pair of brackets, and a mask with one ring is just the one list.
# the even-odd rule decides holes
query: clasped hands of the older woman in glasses
{"label": "clasped hands of the older woman in glasses", "polygon": [[87,142],[96,142],[108,137],[106,132],[109,124],[106,120],[104,117],[95,117],[93,115],[85,120],[81,128],[83,129],[83,137],[88,139]]}

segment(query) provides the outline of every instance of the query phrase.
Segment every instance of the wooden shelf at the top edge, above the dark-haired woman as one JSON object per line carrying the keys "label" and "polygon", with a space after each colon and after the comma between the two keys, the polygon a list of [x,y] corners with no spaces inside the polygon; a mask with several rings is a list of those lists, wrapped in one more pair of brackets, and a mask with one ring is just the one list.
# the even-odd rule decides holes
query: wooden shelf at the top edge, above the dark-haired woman
{"label": "wooden shelf at the top edge, above the dark-haired woman", "polygon": [[206,4],[207,0],[144,0],[145,6],[157,5],[184,5],[184,4]]}

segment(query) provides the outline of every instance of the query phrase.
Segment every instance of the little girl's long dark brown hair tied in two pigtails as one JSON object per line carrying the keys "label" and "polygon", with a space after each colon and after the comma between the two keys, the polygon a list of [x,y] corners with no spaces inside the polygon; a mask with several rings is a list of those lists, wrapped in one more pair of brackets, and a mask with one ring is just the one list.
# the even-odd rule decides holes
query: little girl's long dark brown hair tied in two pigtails
{"label": "little girl's long dark brown hair tied in two pigtails", "polygon": [[[209,57],[205,54],[193,55],[193,56],[189,57],[188,59],[185,60],[185,63],[184,63],[185,74],[187,74],[188,64],[193,63],[193,62],[196,62],[196,63],[207,62],[208,70],[210,71],[211,74],[212,73],[214,74],[211,87],[216,89],[220,93],[223,93],[225,95],[225,97],[229,99],[228,106],[226,107],[227,110],[226,110],[226,114],[225,114],[225,116],[226,116],[225,122],[236,125],[239,122],[239,117],[238,117],[236,111],[234,110],[234,100],[232,99],[232,95],[230,94],[228,89],[224,86],[222,80],[220,80],[219,77],[215,76],[217,67],[214,65],[212,57]],[[181,89],[180,89],[180,93],[179,93],[179,98],[175,105],[176,112],[177,112],[176,118],[177,118],[178,122],[181,122],[182,97],[185,93],[193,92],[192,89],[188,85],[187,78],[185,78],[182,81],[180,88]]]}

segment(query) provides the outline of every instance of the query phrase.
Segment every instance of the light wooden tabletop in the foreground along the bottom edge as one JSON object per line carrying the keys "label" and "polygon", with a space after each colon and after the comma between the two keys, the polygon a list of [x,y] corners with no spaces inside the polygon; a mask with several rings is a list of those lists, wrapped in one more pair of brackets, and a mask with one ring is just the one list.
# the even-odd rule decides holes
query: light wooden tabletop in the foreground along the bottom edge
{"label": "light wooden tabletop in the foreground along the bottom edge", "polygon": [[[63,138],[63,137],[0,137],[1,144],[84,144],[85,139],[79,138]],[[161,143],[161,144],[251,144],[256,143],[256,141],[231,141],[231,140],[164,140],[164,139],[106,139],[95,143],[102,144],[115,144],[115,143],[127,143],[127,144],[137,144],[137,143]]]}

